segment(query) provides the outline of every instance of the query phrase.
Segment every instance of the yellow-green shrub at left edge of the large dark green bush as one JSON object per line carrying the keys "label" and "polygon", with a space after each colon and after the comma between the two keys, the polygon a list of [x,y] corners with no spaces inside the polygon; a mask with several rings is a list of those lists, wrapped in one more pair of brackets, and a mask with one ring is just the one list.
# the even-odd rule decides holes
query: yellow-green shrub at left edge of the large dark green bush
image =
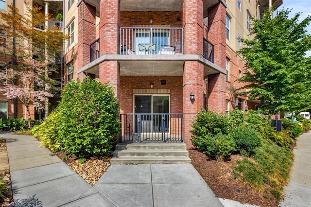
{"label": "yellow-green shrub at left edge of the large dark green bush", "polygon": [[49,117],[43,121],[40,125],[36,125],[32,128],[31,132],[35,138],[41,141],[41,144],[50,148],[52,152],[61,150],[61,137],[59,137],[59,123],[61,121],[61,115],[57,112],[57,109],[49,114]]}

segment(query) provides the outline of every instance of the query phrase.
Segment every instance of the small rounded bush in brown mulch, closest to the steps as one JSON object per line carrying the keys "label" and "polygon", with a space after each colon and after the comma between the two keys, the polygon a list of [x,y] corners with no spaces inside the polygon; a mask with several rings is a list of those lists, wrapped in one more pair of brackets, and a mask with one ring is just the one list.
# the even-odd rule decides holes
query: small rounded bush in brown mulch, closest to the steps
{"label": "small rounded bush in brown mulch, closest to the steps", "polygon": [[219,133],[214,137],[207,137],[204,141],[205,154],[215,157],[218,161],[224,161],[235,151],[235,142],[229,135]]}

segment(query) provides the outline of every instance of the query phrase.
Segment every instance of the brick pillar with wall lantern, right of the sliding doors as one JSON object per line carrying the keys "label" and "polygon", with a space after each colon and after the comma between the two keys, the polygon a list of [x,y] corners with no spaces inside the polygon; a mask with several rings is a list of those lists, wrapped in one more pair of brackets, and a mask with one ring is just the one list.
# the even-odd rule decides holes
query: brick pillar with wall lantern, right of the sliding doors
{"label": "brick pillar with wall lantern, right of the sliding doors", "polygon": [[[203,1],[183,1],[184,53],[203,54]],[[191,120],[203,108],[203,65],[198,61],[185,61],[183,72],[183,138],[187,148],[191,144]],[[194,93],[194,102],[190,101]]]}

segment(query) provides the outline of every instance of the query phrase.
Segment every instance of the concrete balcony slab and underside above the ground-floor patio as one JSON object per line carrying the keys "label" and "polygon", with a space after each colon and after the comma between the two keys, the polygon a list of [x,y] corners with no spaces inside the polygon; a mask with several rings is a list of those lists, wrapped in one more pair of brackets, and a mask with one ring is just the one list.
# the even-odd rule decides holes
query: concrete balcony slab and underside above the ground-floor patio
{"label": "concrete balcony slab and underside above the ground-floor patio", "polygon": [[185,61],[199,61],[204,65],[204,77],[226,70],[199,55],[103,55],[77,73],[95,74],[99,78],[99,64],[116,60],[120,64],[121,76],[182,76]]}

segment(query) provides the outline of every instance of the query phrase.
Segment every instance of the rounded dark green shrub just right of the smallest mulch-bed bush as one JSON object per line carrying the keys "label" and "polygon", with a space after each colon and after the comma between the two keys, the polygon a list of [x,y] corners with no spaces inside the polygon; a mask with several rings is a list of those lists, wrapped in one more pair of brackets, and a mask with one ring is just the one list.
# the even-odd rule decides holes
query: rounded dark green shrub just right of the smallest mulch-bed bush
{"label": "rounded dark green shrub just right of the smallest mulch-bed bush", "polygon": [[239,126],[231,133],[236,148],[243,156],[249,156],[261,144],[261,137],[256,129],[250,126]]}

